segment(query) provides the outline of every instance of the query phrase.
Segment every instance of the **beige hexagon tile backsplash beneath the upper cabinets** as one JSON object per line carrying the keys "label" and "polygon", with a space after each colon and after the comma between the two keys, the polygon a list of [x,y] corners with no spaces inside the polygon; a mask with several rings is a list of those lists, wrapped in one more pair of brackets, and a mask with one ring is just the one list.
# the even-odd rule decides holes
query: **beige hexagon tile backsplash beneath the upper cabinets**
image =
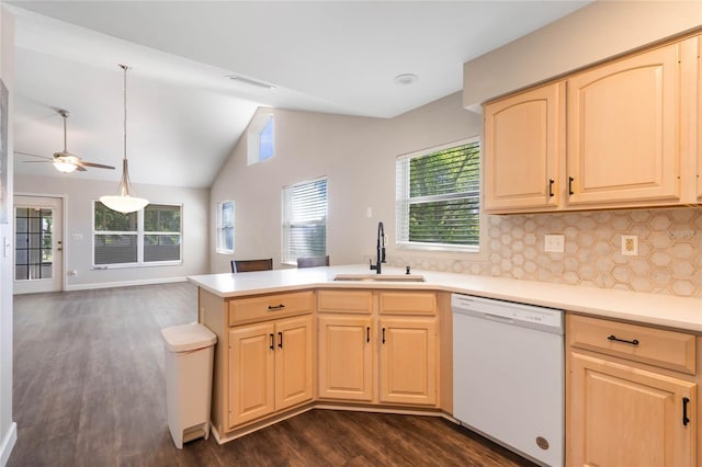
{"label": "beige hexagon tile backsplash beneath the upper cabinets", "polygon": [[[395,266],[702,297],[702,208],[487,216],[483,261],[394,258]],[[544,236],[565,236],[563,253]],[[637,255],[623,255],[622,236]]]}

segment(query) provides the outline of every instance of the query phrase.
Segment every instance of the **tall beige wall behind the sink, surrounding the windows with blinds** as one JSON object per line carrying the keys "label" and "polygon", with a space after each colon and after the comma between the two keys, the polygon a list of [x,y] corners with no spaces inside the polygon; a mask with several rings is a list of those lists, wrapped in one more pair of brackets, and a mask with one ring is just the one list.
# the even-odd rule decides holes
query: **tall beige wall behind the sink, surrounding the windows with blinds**
{"label": "tall beige wall behind the sink, surrounding the windows with blinds", "polygon": [[[480,117],[462,107],[461,93],[393,119],[263,111],[275,116],[275,156],[247,167],[246,138],[241,138],[211,189],[211,242],[215,244],[216,204],[231,200],[236,203],[234,257],[272,257],[275,267],[282,267],[283,186],[326,175],[330,261],[367,262],[375,255],[380,220],[386,235],[395,236],[396,157],[480,132]],[[392,248],[387,253],[394,254]],[[230,270],[231,257],[211,254],[213,272]]]}

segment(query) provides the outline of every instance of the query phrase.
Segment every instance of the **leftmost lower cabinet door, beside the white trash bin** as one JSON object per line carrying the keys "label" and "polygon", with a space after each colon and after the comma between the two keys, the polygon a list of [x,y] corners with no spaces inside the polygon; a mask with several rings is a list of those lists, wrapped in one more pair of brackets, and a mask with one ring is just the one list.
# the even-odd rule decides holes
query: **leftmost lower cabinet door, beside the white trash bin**
{"label": "leftmost lower cabinet door, beside the white trash bin", "polygon": [[272,323],[229,331],[229,426],[272,413],[275,342]]}

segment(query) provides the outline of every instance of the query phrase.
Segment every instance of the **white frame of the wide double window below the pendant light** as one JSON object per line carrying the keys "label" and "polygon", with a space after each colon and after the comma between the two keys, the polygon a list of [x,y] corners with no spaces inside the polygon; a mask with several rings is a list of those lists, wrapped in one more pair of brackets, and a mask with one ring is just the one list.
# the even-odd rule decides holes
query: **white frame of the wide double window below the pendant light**
{"label": "white frame of the wide double window below the pendant light", "polygon": [[[106,269],[121,269],[121,267],[152,267],[152,266],[165,266],[165,265],[176,265],[183,263],[183,205],[176,203],[150,203],[150,205],[158,206],[178,206],[180,208],[180,253],[178,260],[169,260],[169,261],[145,261],[144,260],[144,238],[147,235],[160,235],[160,234],[170,234],[173,232],[152,232],[144,230],[144,209],[139,209],[136,212],[137,214],[137,229],[136,230],[125,230],[125,231],[116,231],[116,230],[95,230],[95,206],[100,203],[100,200],[92,201],[92,213],[91,213],[91,227],[92,227],[92,251],[91,251],[91,264],[93,270],[106,270]],[[148,207],[148,206],[147,206]],[[95,237],[99,235],[136,235],[136,262],[131,263],[109,263],[109,264],[95,264]]]}

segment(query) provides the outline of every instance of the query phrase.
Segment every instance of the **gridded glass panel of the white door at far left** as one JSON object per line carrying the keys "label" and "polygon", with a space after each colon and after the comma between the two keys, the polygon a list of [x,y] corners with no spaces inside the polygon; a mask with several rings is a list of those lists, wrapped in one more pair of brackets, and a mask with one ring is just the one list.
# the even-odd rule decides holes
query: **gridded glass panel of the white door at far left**
{"label": "gridded glass panel of the white door at far left", "polygon": [[54,274],[53,210],[18,207],[14,225],[14,280],[52,278]]}

